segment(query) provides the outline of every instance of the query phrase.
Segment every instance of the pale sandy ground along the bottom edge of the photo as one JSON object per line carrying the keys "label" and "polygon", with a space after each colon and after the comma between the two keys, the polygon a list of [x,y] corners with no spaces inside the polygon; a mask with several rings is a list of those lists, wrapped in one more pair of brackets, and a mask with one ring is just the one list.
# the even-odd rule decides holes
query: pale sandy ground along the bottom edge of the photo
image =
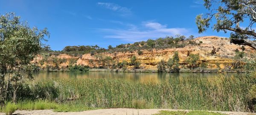
{"label": "pale sandy ground along the bottom edge of the photo", "polygon": [[[176,110],[176,109],[97,109],[97,110],[88,110],[83,112],[53,112],[52,110],[17,110],[14,114],[17,115],[152,115],[160,110],[169,110],[169,111],[189,111],[189,110]],[[256,115],[253,113],[246,112],[219,112],[227,115]],[[4,113],[0,113],[4,115]]]}

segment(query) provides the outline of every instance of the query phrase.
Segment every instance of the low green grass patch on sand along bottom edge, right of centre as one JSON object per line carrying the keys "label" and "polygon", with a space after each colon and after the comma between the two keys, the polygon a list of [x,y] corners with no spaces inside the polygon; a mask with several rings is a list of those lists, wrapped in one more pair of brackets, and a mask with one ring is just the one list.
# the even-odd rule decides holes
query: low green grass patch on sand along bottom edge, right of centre
{"label": "low green grass patch on sand along bottom edge, right of centre", "polygon": [[154,115],[224,115],[216,112],[205,112],[205,111],[160,111]]}

